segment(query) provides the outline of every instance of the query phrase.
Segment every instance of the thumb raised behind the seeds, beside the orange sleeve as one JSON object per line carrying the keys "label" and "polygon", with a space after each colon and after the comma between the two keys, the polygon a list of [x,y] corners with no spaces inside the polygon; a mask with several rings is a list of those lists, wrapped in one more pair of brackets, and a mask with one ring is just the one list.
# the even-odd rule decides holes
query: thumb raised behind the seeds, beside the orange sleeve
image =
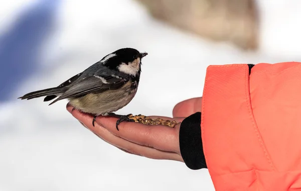
{"label": "thumb raised behind the seeds, beside the orange sleeve", "polygon": [[202,110],[202,97],[195,97],[176,104],[173,109],[174,117],[187,117]]}

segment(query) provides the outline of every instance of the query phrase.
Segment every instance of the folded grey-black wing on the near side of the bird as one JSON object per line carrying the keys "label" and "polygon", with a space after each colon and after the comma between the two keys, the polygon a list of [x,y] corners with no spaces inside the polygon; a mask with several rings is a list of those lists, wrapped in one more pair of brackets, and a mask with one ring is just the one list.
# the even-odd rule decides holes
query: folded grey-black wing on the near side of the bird
{"label": "folded grey-black wing on the near side of the bird", "polygon": [[[116,89],[125,84],[128,81],[127,78],[122,78],[117,75],[91,75],[77,80],[76,83],[71,84],[70,88],[66,90],[56,100],[51,102],[49,105],[55,103],[58,100],[81,96],[87,93],[97,93],[106,89]],[[63,83],[62,83],[63,84]]]}

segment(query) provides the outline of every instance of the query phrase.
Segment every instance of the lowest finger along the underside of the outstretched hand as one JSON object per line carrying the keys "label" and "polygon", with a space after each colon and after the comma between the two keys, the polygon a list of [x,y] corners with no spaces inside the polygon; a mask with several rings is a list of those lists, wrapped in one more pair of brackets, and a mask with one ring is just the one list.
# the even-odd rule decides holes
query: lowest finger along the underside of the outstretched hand
{"label": "lowest finger along the underside of the outstretched hand", "polygon": [[[68,111],[71,111],[70,108],[67,107],[67,109]],[[161,151],[155,148],[135,144],[121,137],[115,136],[106,128],[100,126],[98,123],[95,123],[95,126],[93,126],[92,125],[93,116],[89,114],[81,113],[78,110],[74,110],[72,112],[72,115],[78,120],[80,120],[87,128],[89,128],[93,133],[97,134],[104,141],[120,149],[124,149],[127,152],[136,155],[145,156],[148,158],[154,158],[154,159],[171,159],[171,160],[183,161],[182,157],[177,153]]]}

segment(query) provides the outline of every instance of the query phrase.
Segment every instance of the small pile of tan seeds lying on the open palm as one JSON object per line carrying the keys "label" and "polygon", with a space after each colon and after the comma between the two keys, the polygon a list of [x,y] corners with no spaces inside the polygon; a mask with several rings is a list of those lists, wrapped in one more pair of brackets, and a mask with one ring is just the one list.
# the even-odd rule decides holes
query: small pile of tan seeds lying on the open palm
{"label": "small pile of tan seeds lying on the open palm", "polygon": [[150,125],[156,125],[156,124],[161,124],[169,127],[175,127],[176,124],[179,124],[180,122],[177,122],[176,120],[165,120],[162,118],[150,118],[148,116],[138,114],[138,115],[132,115],[128,114],[128,118],[133,119],[135,122],[140,122],[142,124],[150,124]]}

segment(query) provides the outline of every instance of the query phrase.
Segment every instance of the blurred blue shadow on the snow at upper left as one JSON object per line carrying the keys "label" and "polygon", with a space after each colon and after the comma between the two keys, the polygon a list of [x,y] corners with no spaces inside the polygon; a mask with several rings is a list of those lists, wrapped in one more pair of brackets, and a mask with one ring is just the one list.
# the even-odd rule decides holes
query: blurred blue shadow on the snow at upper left
{"label": "blurred blue shadow on the snow at upper left", "polygon": [[0,36],[0,102],[39,66],[38,54],[52,32],[60,0],[40,0],[24,10],[15,25]]}

